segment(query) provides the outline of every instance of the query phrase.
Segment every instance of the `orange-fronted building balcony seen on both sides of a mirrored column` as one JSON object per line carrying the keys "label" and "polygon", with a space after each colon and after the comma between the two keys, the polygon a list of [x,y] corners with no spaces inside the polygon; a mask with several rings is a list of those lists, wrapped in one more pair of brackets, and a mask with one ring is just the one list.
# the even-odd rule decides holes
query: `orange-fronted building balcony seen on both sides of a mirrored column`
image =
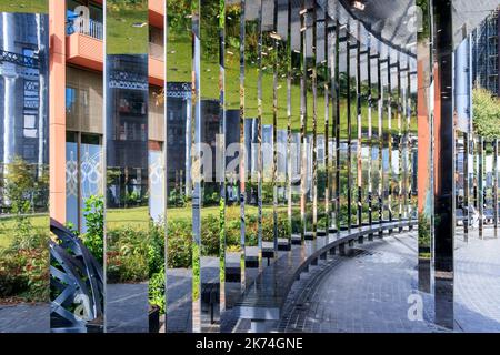
{"label": "orange-fronted building balcony seen on both sides of a mirrored column", "polygon": [[[103,68],[103,34],[102,23],[91,20],[86,28],[78,23],[78,19],[70,21],[67,27],[66,57],[67,62],[79,67],[102,71]],[[149,82],[163,85],[164,61],[163,47],[149,43]]]}

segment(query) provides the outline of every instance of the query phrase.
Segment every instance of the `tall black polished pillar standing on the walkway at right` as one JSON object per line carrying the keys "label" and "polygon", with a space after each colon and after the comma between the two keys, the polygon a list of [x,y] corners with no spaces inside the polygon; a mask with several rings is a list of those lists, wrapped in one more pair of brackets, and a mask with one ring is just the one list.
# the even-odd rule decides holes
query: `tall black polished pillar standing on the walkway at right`
{"label": "tall black polished pillar standing on the walkway at right", "polygon": [[[454,134],[452,1],[433,0],[437,159],[434,189],[434,321],[453,328]],[[482,148],[481,148],[482,149]],[[480,178],[482,179],[482,178]]]}

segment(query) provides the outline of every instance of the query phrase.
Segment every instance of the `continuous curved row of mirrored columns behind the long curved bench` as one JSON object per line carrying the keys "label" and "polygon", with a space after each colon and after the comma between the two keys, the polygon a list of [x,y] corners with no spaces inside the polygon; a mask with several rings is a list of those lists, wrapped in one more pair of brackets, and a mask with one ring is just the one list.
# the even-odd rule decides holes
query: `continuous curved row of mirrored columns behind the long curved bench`
{"label": "continuous curved row of mirrored columns behind the long curved bench", "polygon": [[166,331],[228,331],[291,244],[414,216],[414,60],[314,1],[166,10]]}

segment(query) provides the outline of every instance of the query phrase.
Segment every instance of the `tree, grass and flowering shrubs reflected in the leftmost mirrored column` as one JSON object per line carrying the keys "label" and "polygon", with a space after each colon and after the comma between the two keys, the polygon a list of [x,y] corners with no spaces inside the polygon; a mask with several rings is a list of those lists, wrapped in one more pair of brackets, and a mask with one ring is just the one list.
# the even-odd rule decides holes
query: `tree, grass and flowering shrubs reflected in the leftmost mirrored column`
{"label": "tree, grass and flowering shrubs reflected in the leftmost mirrored column", "polygon": [[46,302],[49,296],[49,233],[43,217],[48,209],[47,166],[14,156],[3,165],[3,171],[2,212],[7,215],[0,221],[3,246],[0,247],[0,300]]}

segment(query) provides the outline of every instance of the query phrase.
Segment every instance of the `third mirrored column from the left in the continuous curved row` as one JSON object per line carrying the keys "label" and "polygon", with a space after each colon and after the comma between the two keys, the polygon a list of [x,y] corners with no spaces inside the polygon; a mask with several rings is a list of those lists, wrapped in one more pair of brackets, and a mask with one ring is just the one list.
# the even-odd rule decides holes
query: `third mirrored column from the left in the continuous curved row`
{"label": "third mirrored column from the left in the continuous curved row", "polygon": [[[226,221],[224,280],[221,281],[221,332],[224,310],[231,310],[244,290],[247,164],[244,144],[244,1],[226,2],[224,115],[226,115]],[[251,148],[250,148],[251,149]],[[223,287],[222,287],[223,286]],[[229,313],[228,313],[229,314]],[[228,315],[230,317],[230,315]]]}

